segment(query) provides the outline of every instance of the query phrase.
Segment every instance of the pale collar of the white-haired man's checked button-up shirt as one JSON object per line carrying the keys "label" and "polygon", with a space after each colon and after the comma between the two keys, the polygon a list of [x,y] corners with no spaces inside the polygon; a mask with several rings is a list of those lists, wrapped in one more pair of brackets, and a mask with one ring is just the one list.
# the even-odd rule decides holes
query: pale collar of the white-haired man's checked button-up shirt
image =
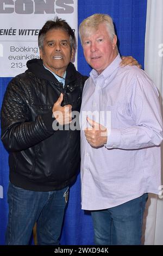
{"label": "pale collar of the white-haired man's checked button-up shirt", "polygon": [[97,77],[104,77],[104,78],[108,78],[112,75],[112,73],[120,67],[120,63],[121,63],[122,59],[120,54],[118,53],[117,57],[113,60],[113,62],[110,63],[109,66],[107,66],[107,68],[100,74],[98,75],[98,72],[95,69],[92,69],[90,72],[90,76],[93,79],[96,79]]}

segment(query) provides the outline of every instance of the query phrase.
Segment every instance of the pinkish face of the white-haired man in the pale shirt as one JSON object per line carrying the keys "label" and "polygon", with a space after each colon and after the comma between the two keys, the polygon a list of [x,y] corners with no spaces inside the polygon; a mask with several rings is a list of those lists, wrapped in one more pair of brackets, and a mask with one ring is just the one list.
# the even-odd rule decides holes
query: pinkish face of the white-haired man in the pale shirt
{"label": "pinkish face of the white-haired man in the pale shirt", "polygon": [[116,42],[116,35],[113,40],[110,39],[105,23],[99,24],[97,31],[82,36],[85,59],[98,74],[116,58]]}

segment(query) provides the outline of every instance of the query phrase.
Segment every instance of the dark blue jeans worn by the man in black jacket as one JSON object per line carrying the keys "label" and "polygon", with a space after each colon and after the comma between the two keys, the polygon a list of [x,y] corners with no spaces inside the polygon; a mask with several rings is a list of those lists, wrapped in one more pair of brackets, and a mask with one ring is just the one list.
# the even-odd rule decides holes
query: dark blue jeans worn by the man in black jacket
{"label": "dark blue jeans worn by the man in black jacket", "polygon": [[24,190],[9,183],[6,245],[28,245],[37,222],[37,244],[59,245],[68,187],[51,192]]}

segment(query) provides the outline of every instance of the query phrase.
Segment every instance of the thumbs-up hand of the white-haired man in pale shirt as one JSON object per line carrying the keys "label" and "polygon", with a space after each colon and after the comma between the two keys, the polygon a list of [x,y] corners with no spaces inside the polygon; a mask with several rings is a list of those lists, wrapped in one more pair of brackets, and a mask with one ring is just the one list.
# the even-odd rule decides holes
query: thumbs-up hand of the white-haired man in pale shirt
{"label": "thumbs-up hand of the white-haired man in pale shirt", "polygon": [[107,142],[107,129],[96,121],[86,118],[91,127],[85,129],[87,142],[94,148],[100,147]]}

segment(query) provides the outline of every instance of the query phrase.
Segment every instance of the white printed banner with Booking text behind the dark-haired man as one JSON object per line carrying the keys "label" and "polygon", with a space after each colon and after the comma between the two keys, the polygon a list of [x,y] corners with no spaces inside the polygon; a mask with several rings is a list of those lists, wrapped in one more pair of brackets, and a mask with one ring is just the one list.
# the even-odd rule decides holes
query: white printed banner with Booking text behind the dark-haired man
{"label": "white printed banner with Booking text behind the dark-haired man", "polygon": [[0,0],[0,77],[21,74],[28,60],[39,58],[39,31],[55,16],[66,20],[77,39],[77,0]]}

